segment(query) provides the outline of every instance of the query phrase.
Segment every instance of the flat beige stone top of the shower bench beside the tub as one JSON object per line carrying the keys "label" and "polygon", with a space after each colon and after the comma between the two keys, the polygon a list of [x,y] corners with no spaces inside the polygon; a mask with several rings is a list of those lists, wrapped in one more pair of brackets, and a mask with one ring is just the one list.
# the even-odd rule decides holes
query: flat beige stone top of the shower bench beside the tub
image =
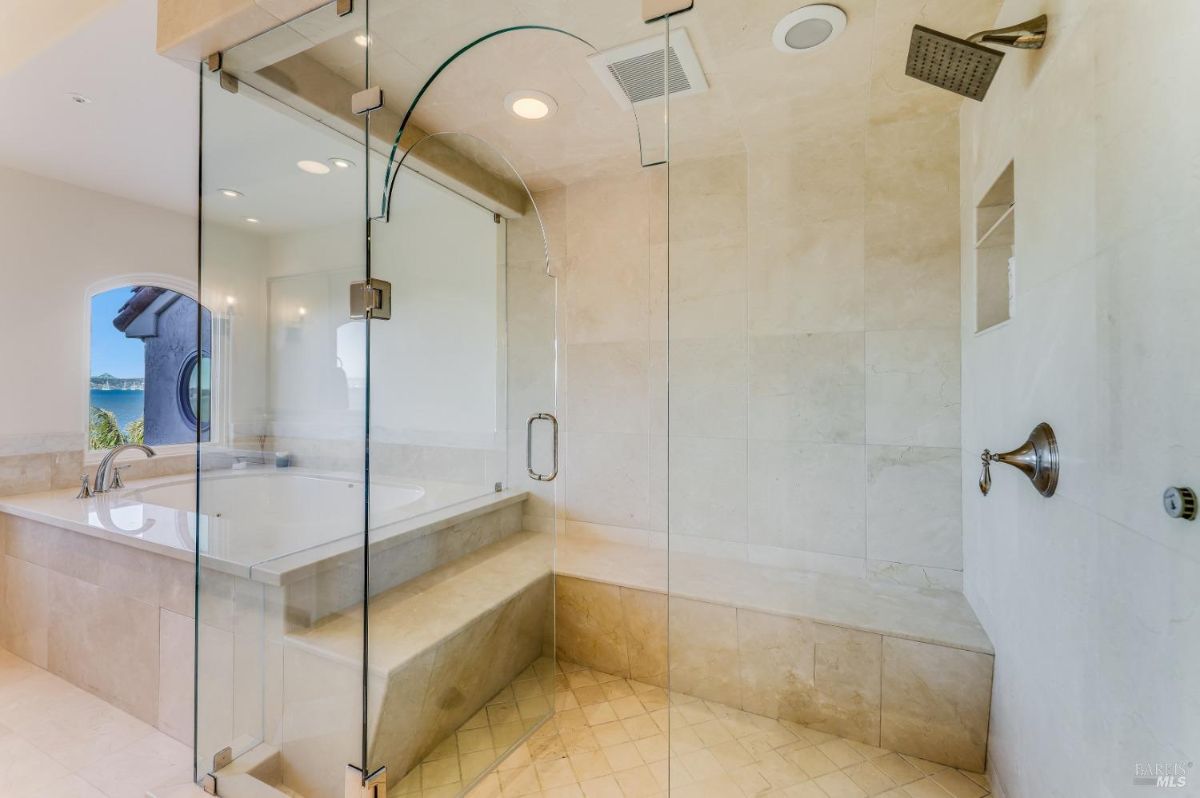
{"label": "flat beige stone top of the shower bench beside the tub", "polygon": [[[552,538],[518,532],[371,598],[370,670],[382,677],[550,575]],[[286,636],[288,646],[356,664],[362,605]]]}

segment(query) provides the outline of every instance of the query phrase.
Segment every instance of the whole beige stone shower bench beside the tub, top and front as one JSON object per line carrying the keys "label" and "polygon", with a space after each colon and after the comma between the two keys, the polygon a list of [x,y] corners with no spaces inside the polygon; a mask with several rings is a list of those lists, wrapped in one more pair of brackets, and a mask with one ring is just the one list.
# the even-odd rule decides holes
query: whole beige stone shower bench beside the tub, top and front
{"label": "whole beige stone shower bench beside the tub, top and front", "polygon": [[[520,532],[372,598],[368,757],[406,773],[552,640],[552,540]],[[284,637],[282,782],[336,794],[361,724],[362,607]]]}

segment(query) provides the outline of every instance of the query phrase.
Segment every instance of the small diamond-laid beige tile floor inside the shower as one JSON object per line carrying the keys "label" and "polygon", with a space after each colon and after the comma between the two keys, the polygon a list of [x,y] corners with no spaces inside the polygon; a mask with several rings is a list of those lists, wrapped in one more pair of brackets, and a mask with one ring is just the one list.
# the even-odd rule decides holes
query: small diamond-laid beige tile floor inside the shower
{"label": "small diamond-laid beige tile floor inside the shower", "polygon": [[[550,703],[554,716],[492,767]],[[452,798],[481,773],[469,798],[990,794],[983,774],[686,695],[668,700],[661,688],[551,660],[522,673],[389,793]]]}

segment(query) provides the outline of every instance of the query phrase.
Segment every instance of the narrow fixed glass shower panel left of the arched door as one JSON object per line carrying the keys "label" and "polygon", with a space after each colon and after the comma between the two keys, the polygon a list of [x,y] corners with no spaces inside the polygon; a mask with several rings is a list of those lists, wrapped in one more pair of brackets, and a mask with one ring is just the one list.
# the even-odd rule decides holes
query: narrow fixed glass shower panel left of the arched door
{"label": "narrow fixed glass shower panel left of the arched door", "polygon": [[[340,798],[361,762],[362,17],[319,8],[203,74],[196,775],[217,794]],[[314,84],[320,29],[340,71]]]}

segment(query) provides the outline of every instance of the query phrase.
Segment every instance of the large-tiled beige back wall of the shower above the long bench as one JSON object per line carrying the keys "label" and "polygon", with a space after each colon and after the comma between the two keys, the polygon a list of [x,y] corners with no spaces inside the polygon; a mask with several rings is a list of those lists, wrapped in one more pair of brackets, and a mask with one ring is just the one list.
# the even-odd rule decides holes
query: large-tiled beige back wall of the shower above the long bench
{"label": "large-tiled beige back wall of the shower above the long bench", "polygon": [[538,197],[568,530],[961,586],[956,108],[878,103]]}

